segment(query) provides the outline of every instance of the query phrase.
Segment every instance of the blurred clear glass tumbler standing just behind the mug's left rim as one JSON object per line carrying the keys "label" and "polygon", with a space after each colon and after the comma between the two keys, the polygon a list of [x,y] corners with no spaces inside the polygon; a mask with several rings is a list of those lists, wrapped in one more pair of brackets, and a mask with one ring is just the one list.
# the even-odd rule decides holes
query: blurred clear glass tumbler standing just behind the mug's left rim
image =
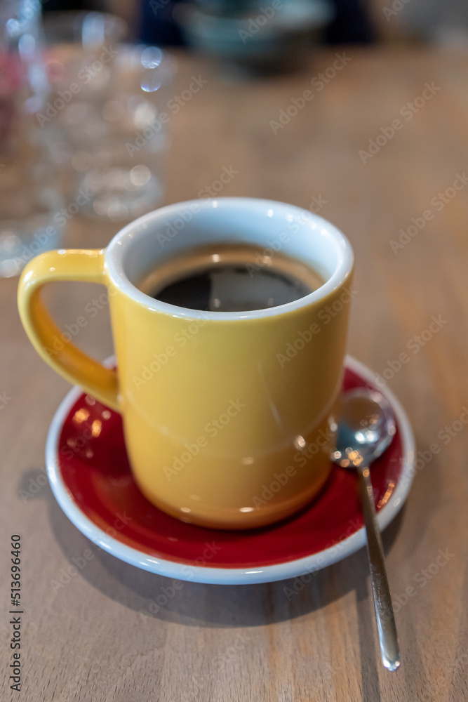
{"label": "blurred clear glass tumbler standing just behind the mug's left rim", "polygon": [[166,191],[168,88],[175,65],[156,46],[119,46],[116,88],[100,112],[98,140],[81,140],[72,158],[79,187],[92,199],[86,213],[132,220],[163,202]]}

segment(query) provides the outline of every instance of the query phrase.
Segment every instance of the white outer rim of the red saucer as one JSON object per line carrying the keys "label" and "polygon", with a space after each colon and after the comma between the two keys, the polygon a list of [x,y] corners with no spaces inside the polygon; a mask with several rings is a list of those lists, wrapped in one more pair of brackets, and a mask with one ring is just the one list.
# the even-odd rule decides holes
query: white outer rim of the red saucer
{"label": "white outer rim of the red saucer", "polygon": [[[354,357],[347,356],[345,359],[345,366],[354,373],[357,373],[361,378],[363,378],[363,380],[373,383],[378,387],[378,384],[376,383],[377,374],[368,369],[368,367],[361,362],[354,359]],[[379,387],[379,390],[382,392],[382,395],[387,397],[394,409],[394,413],[399,424],[402,455],[404,456],[401,477],[394,493],[392,494],[392,498],[377,515],[377,522],[380,530],[383,530],[390,522],[392,522],[399,510],[401,510],[401,507],[408,496],[411,483],[413,482],[415,440],[408,416],[406,416],[406,412],[401,406],[399,400],[396,399],[394,393],[386,386],[385,388]],[[72,524],[74,524],[74,526],[79,529],[82,534],[89,538],[90,541],[111,555],[114,555],[116,558],[119,558],[138,568],[150,571],[154,574],[174,578],[175,580],[216,585],[241,585],[270,583],[274,581],[286,580],[288,578],[295,578],[297,576],[305,576],[305,574],[318,571],[344,559],[349,555],[352,555],[354,552],[362,548],[363,545],[365,545],[366,535],[363,527],[361,527],[361,529],[355,531],[354,534],[347,536],[339,543],[330,545],[329,548],[314,553],[310,556],[258,568],[226,568],[192,566],[183,562],[156,558],[121,543],[121,541],[118,541],[113,536],[106,534],[105,531],[98,527],[76,505],[72,494],[63,482],[62,475],[60,473],[60,464],[58,461],[56,461],[58,442],[63,423],[70,409],[82,394],[83,390],[81,388],[73,388],[67,393],[55,412],[51,426],[48,430],[46,442],[46,468],[48,479],[55,499]]]}

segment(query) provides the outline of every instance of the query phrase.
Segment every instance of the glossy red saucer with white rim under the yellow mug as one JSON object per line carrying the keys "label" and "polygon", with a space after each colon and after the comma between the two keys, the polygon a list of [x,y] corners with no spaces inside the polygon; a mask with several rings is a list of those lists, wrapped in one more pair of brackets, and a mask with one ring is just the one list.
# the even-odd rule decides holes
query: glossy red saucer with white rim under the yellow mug
{"label": "glossy red saucer with white rim under the yellow mug", "polygon": [[[375,387],[363,377],[369,374],[364,366],[347,359],[344,389]],[[373,464],[377,510],[385,505],[390,508],[389,500],[401,482],[403,470],[407,473],[412,460],[409,425],[402,432],[402,418],[403,423],[407,423],[406,416],[401,414],[403,411],[391,393],[385,394],[394,409],[398,409],[397,431],[389,449]],[[83,533],[128,562],[164,574],[168,574],[168,570],[171,574],[177,572],[176,564],[179,568],[180,564],[194,566],[197,571],[204,568],[242,569],[244,574],[246,570],[265,572],[265,568],[269,571],[268,567],[285,566],[329,550],[361,529],[363,520],[356,475],[338,468],[332,471],[321,494],[305,510],[271,527],[221,531],[180,522],[149,503],[136,486],[123,442],[121,416],[88,395],[79,395],[70,406],[71,399],[74,398],[69,397],[68,403],[66,399],[65,406],[58,412],[55,430],[51,428],[48,440],[48,471],[55,496]],[[407,484],[398,501],[393,501],[392,514],[385,519],[387,523],[406,497],[408,475],[404,482]],[[354,544],[356,548],[362,545],[362,539],[360,541]],[[209,550],[208,545],[213,548]],[[133,556],[129,557],[133,552],[140,555],[140,560],[136,559],[138,562]],[[342,555],[346,552],[349,548]],[[147,562],[171,562],[175,569],[145,565],[142,563],[145,555]],[[260,571],[255,570],[259,568]],[[283,575],[282,569],[273,570],[279,577],[290,576],[288,568]],[[179,577],[183,578],[183,574]],[[254,579],[262,581],[262,578]],[[212,579],[207,581],[213,582]],[[227,579],[215,578],[214,581],[233,580],[227,576]]]}

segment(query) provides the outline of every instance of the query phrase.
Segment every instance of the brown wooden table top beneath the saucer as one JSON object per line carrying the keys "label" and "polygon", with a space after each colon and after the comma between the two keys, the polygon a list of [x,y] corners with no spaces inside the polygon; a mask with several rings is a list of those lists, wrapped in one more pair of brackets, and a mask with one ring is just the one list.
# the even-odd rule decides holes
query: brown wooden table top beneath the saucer
{"label": "brown wooden table top beneath the saucer", "polygon": [[[401,668],[387,673],[380,663],[364,550],[319,571],[289,601],[283,588],[290,582],[185,583],[151,614],[170,581],[91,544],[46,484],[46,433],[69,386],[29,344],[15,310],[17,281],[7,279],[0,280],[5,699],[467,698],[468,54],[349,48],[346,65],[335,70],[335,53],[343,54],[317,51],[292,77],[250,82],[181,55],[174,94],[193,76],[207,82],[173,114],[167,200],[203,196],[227,169],[232,176],[220,194],[312,208],[352,241],[359,294],[349,352],[385,375],[423,452],[406,506],[384,534]],[[311,85],[327,69],[327,82]],[[313,95],[305,107],[272,125],[304,91]],[[76,216],[65,243],[102,246],[117,228]],[[60,296],[51,286],[48,298],[66,324],[96,291],[64,284]],[[109,355],[106,310],[83,328],[79,343],[96,357]],[[398,369],[404,353],[408,362]],[[22,540],[19,696],[6,680],[11,534]],[[86,567],[56,588],[62,569],[87,549],[93,558]]]}

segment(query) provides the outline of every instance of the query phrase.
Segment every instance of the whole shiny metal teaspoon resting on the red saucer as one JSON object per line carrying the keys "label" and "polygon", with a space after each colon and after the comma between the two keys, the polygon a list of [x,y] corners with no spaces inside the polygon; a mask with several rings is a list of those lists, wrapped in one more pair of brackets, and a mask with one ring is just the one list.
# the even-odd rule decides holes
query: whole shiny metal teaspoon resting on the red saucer
{"label": "whole shiny metal teaspoon resting on the red saucer", "polygon": [[357,470],[359,475],[380,653],[387,670],[399,667],[400,651],[369,465],[387,449],[395,432],[392,407],[380,392],[356,388],[342,395],[336,447],[331,458],[342,468]]}

